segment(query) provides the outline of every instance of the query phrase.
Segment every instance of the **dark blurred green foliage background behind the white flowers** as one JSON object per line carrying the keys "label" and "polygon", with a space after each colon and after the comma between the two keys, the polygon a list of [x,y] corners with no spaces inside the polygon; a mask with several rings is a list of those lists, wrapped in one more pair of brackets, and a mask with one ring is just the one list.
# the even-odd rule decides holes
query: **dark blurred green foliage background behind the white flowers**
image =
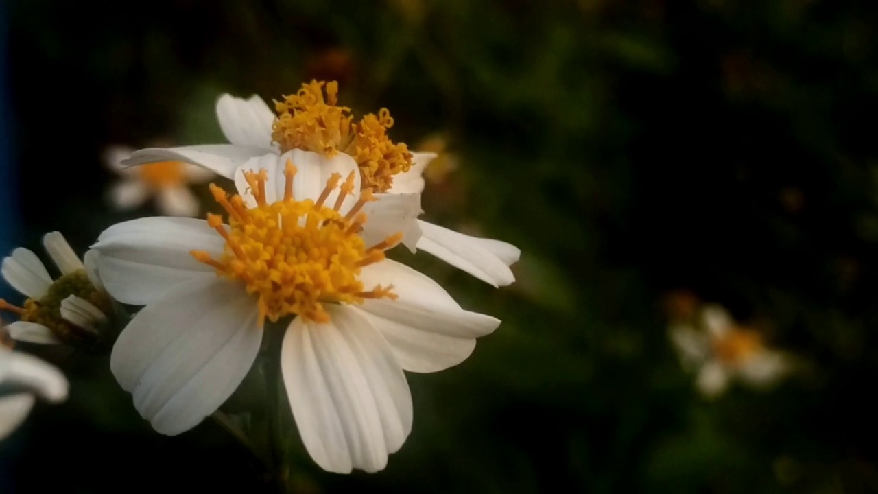
{"label": "dark blurred green foliage background behind the white flowers", "polygon": [[[13,0],[6,15],[18,244],[58,229],[84,251],[155,214],[109,207],[104,146],[224,142],[221,92],[270,101],[317,77],[357,114],[390,108],[413,149],[443,135],[458,165],[428,183],[425,218],[522,249],[501,289],[399,253],[503,323],[460,366],[408,374],[414,430],[385,471],[327,474],[302,449],[295,491],[878,490],[878,4]],[[805,370],[704,400],[666,337],[679,289],[770,322]],[[270,491],[214,423],[152,432],[105,359],[27,350],[72,395],[0,445],[4,493]]]}

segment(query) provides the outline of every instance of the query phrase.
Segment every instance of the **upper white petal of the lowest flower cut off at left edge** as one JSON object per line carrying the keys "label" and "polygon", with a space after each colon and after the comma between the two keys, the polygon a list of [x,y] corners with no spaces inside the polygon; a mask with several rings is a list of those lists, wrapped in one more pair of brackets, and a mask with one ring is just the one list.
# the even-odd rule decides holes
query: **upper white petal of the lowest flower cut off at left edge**
{"label": "upper white petal of the lowest flower cut off at left edge", "polygon": [[68,381],[52,364],[22,352],[0,348],[0,381],[32,389],[52,403],[67,399]]}

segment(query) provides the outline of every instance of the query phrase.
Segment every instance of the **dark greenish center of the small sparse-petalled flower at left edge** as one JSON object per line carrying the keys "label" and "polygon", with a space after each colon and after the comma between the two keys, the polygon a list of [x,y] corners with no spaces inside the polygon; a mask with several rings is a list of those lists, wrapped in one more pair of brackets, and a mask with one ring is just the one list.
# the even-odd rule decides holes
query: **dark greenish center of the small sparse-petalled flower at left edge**
{"label": "dark greenish center of the small sparse-petalled flower at left edge", "polygon": [[110,296],[98,290],[83,270],[64,274],[54,280],[46,294],[40,300],[27,299],[24,307],[12,305],[0,299],[0,310],[18,314],[26,323],[37,323],[46,326],[49,331],[64,342],[76,345],[80,342],[93,342],[96,335],[83,330],[61,317],[61,301],[70,295],[76,295],[100,309],[104,314],[111,314],[112,301]]}

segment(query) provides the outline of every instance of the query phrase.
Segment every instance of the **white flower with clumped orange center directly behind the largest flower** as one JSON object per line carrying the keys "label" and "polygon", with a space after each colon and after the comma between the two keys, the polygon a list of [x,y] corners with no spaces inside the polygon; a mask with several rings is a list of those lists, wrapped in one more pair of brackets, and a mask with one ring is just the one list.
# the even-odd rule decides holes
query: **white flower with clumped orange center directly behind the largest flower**
{"label": "white flower with clumped orange center directly behind the largest flower", "polygon": [[[410,153],[405,144],[392,142],[386,131],[393,119],[386,109],[355,122],[349,108],[337,105],[338,84],[326,84],[326,96],[323,86],[316,81],[302,84],[297,94],[276,103],[277,115],[258,96],[243,99],[224,94],[216,112],[231,144],[140,149],[123,164],[176,160],[234,178],[252,157],[304,149],[327,158],[338,154],[352,157],[362,175],[363,189],[370,189],[377,197],[420,194],[424,188],[421,174],[435,153]],[[405,234],[402,243],[411,251],[428,251],[494,287],[515,281],[509,266],[518,261],[521,251],[514,245],[444,229],[418,220],[418,214],[421,212],[405,218],[409,224],[401,228]]]}

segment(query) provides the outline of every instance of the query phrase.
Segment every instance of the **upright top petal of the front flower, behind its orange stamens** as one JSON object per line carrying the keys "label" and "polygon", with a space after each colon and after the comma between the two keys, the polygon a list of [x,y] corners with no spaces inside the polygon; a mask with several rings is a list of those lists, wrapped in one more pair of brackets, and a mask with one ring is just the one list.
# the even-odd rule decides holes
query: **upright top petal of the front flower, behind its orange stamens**
{"label": "upright top petal of the front flower, behind its orange stamens", "polygon": [[296,175],[292,180],[292,196],[294,200],[317,200],[320,197],[320,193],[323,193],[323,189],[326,188],[327,180],[333,173],[338,173],[342,176],[342,179],[339,181],[339,185],[335,187],[335,190],[327,196],[325,202],[328,206],[333,207],[335,206],[335,200],[338,199],[342,182],[351,172],[354,173],[354,192],[342,201],[342,207],[339,210],[342,213],[346,213],[350,207],[354,206],[356,200],[359,199],[360,171],[356,166],[354,158],[344,153],[338,153],[333,158],[327,159],[312,151],[292,149],[281,156],[268,155],[250,159],[235,172],[234,185],[248,207],[254,207],[255,200],[250,191],[250,186],[244,178],[244,171],[265,170],[268,172],[265,197],[271,203],[284,199],[284,188],[286,186],[284,170],[286,170],[288,160],[296,167]]}

